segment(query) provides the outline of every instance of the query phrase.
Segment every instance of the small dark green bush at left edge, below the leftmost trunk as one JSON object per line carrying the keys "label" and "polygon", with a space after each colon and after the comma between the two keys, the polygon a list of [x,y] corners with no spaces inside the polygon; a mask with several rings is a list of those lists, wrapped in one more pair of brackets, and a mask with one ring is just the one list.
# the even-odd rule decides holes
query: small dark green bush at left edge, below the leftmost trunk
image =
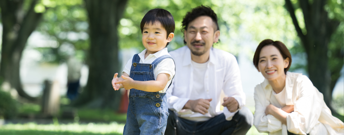
{"label": "small dark green bush at left edge, below the leftmost trunk", "polygon": [[18,113],[18,103],[10,93],[0,90],[0,118],[14,118]]}

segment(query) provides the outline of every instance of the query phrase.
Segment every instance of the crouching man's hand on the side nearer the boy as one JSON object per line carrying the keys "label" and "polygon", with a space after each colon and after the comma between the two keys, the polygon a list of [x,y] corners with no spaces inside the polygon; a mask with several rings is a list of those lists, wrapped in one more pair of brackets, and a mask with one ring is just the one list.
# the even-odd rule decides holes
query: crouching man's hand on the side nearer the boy
{"label": "crouching man's hand on the side nearer the boy", "polygon": [[198,100],[189,100],[184,105],[183,109],[190,109],[192,112],[198,112],[201,114],[208,113],[210,106],[210,101],[213,99],[198,99]]}

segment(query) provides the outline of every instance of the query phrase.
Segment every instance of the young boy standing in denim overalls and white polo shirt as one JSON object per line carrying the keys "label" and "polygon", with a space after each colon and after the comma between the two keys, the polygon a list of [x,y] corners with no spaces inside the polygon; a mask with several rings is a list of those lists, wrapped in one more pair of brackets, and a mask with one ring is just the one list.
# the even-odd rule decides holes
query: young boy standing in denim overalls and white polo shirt
{"label": "young boy standing in denim overalls and white polo shirt", "polygon": [[[141,21],[142,44],[118,78],[112,79],[115,90],[130,89],[127,123],[123,135],[164,134],[168,118],[166,90],[175,74],[174,60],[166,46],[174,37],[174,19],[164,9],[152,9]],[[170,59],[167,59],[170,58]]]}

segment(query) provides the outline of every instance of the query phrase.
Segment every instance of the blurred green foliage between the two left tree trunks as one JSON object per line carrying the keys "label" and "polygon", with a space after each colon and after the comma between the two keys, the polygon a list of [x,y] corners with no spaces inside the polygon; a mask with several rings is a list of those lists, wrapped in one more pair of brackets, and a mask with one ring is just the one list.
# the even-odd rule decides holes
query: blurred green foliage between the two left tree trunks
{"label": "blurred green foliage between the two left tree trunks", "polygon": [[47,35],[46,40],[56,41],[54,44],[35,46],[43,56],[41,62],[58,63],[66,60],[69,55],[83,60],[84,52],[89,46],[88,17],[84,1],[41,0],[37,5],[43,5],[47,9],[36,30]]}

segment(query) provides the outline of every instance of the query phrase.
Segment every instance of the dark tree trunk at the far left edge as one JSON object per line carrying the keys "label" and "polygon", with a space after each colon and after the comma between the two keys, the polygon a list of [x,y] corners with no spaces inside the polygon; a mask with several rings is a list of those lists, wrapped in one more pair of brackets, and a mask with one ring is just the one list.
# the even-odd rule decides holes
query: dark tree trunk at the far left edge
{"label": "dark tree trunk at the far left edge", "polygon": [[0,79],[8,82],[11,88],[28,100],[36,98],[26,94],[21,86],[19,67],[22,52],[30,34],[35,30],[42,18],[42,13],[36,13],[32,1],[30,9],[25,14],[23,0],[0,1],[1,19],[3,24]]}

